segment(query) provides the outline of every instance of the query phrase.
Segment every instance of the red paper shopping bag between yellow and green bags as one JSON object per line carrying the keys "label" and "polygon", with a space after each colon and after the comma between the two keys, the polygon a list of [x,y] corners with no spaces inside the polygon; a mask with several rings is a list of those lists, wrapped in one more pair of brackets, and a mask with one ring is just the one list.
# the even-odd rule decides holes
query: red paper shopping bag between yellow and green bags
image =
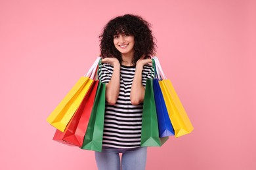
{"label": "red paper shopping bag between yellow and green bags", "polygon": [[91,85],[89,92],[85,95],[81,105],[79,105],[79,108],[66,127],[66,130],[61,132],[56,129],[53,137],[54,141],[68,145],[71,144],[72,146],[82,146],[83,137],[85,136],[85,131],[91,116],[91,110],[93,109],[97,86],[98,80]]}

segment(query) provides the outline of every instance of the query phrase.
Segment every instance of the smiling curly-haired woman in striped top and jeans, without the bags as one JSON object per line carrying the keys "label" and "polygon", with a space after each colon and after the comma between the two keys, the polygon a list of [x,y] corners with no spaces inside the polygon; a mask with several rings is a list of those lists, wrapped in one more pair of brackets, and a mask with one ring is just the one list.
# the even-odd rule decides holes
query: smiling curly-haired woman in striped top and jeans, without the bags
{"label": "smiling curly-haired woman in striped top and jeans, without the bags", "polygon": [[102,152],[95,152],[98,169],[145,169],[146,147],[140,147],[146,79],[152,78],[155,42],[150,24],[126,14],[110,20],[100,35],[106,83],[106,110]]}

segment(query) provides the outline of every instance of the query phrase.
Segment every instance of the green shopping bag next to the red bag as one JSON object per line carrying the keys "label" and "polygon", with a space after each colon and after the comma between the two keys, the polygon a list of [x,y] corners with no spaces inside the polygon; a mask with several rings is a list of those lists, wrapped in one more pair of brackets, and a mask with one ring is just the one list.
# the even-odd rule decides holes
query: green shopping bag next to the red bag
{"label": "green shopping bag next to the red bag", "polygon": [[105,96],[106,84],[98,82],[95,102],[93,104],[93,110],[91,112],[91,117],[83,140],[83,146],[81,146],[82,149],[95,150],[98,152],[101,152],[102,150],[106,101]]}

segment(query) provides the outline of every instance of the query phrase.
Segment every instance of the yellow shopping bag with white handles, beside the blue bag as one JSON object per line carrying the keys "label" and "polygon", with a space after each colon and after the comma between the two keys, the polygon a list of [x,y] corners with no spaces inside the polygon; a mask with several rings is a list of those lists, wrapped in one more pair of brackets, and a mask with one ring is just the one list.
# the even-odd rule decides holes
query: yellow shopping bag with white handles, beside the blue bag
{"label": "yellow shopping bag with white handles, beside the blue bag", "polygon": [[171,119],[171,124],[173,125],[173,129],[175,131],[175,137],[181,137],[182,135],[190,133],[194,127],[192,126],[188,115],[182,106],[181,100],[173,88],[173,84],[171,84],[171,81],[168,80],[163,73],[158,58],[154,57],[153,59],[156,62],[156,69],[158,73],[161,77],[163,77],[163,80],[160,80],[159,84],[161,92],[163,93],[169,118]]}

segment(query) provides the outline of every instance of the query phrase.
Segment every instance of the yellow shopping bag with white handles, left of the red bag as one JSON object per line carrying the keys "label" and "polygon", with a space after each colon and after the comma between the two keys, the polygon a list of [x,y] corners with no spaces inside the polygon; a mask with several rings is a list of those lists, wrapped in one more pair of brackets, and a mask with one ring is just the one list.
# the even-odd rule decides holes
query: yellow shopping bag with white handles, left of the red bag
{"label": "yellow shopping bag with white handles, left of the red bag", "polygon": [[52,126],[56,127],[60,131],[64,132],[68,122],[70,122],[72,116],[74,116],[75,110],[79,107],[85,94],[88,92],[91,84],[93,83],[93,77],[98,67],[98,57],[95,63],[89,69],[86,76],[82,76],[75,86],[68,92],[68,94],[62,99],[58,106],[53,110],[53,112],[47,118],[47,122]]}

